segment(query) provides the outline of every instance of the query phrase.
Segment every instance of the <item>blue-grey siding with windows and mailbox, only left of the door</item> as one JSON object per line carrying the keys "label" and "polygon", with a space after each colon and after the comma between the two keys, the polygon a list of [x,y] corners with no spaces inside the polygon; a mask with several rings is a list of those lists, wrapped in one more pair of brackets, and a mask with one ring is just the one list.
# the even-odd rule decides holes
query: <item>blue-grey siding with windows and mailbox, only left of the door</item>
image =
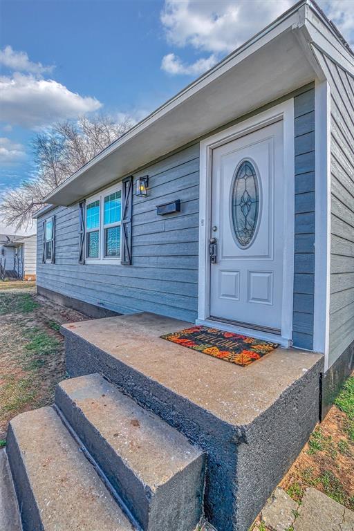
{"label": "blue-grey siding with windows and mailbox, only left of the door", "polygon": [[[78,205],[53,211],[55,264],[41,263],[39,219],[39,286],[119,313],[150,311],[194,322],[198,308],[198,157],[196,144],[142,171],[149,175],[149,196],[133,196],[133,263],[129,267],[78,263]],[[156,205],[175,199],[181,201],[180,212],[165,217],[156,214]]]}

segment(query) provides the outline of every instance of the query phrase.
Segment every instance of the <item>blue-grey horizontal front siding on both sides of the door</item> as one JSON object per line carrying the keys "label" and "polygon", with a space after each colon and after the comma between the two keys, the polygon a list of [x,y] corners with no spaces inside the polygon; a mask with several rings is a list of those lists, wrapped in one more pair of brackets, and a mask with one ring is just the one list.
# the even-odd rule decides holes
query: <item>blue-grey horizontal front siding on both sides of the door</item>
{"label": "blue-grey horizontal front siding on both sides of the door", "polygon": [[[315,97],[295,101],[295,274],[293,342],[312,348],[315,270]],[[131,266],[78,263],[78,205],[57,207],[55,264],[41,263],[40,286],[121,313],[152,311],[194,322],[198,308],[199,145],[159,162],[149,175],[149,195],[133,196]],[[181,211],[157,216],[156,206],[180,199]]]}

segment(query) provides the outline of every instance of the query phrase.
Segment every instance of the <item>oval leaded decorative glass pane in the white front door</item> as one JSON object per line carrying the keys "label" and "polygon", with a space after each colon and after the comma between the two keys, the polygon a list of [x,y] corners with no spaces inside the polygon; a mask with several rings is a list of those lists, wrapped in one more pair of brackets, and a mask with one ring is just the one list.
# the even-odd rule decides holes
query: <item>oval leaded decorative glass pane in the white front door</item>
{"label": "oval leaded decorative glass pane in the white front door", "polygon": [[243,160],[232,186],[232,227],[240,247],[252,243],[259,218],[259,180],[250,160]]}

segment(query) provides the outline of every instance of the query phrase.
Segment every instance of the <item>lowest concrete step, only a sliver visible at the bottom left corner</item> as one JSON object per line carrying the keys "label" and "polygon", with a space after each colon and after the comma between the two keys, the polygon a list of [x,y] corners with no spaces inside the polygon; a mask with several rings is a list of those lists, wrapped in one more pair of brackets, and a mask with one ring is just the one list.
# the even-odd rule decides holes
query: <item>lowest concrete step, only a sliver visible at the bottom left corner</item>
{"label": "lowest concrete step, only a sliver visible at the bottom left corner", "polygon": [[12,483],[8,456],[4,448],[0,450],[0,530],[22,530],[19,517],[19,505],[17,503],[14,484]]}

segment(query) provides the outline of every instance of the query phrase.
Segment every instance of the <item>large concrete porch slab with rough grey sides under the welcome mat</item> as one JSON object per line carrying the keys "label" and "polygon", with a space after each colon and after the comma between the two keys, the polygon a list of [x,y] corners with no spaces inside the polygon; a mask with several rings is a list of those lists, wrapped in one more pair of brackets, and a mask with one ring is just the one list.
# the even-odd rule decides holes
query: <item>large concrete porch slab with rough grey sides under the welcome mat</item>
{"label": "large concrete porch slab with rough grey sides under the welcome mat", "polygon": [[67,324],[71,376],[100,373],[207,454],[205,516],[246,531],[319,419],[322,356],[277,348],[247,367],[160,339],[151,313]]}

